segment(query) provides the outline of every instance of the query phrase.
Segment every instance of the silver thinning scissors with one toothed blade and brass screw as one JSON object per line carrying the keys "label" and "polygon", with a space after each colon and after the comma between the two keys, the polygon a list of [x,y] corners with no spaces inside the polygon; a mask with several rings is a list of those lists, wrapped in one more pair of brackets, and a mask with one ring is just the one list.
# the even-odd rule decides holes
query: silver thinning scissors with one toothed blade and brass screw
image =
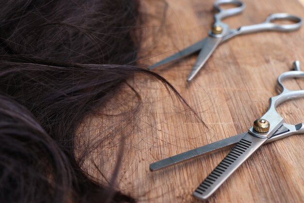
{"label": "silver thinning scissors with one toothed blade and brass screw", "polygon": [[304,133],[304,123],[298,125],[286,124],[284,123],[284,118],[281,117],[275,109],[279,104],[287,100],[304,97],[304,90],[289,90],[282,84],[282,81],[287,78],[304,78],[304,72],[300,71],[300,62],[295,61],[293,67],[294,71],[285,72],[278,77],[278,90],[281,93],[270,98],[268,111],[260,119],[254,121],[253,126],[248,132],[152,163],[150,170],[156,171],[223,148],[235,146],[194,191],[194,197],[205,200],[212,195],[256,149],[266,143],[293,134]]}

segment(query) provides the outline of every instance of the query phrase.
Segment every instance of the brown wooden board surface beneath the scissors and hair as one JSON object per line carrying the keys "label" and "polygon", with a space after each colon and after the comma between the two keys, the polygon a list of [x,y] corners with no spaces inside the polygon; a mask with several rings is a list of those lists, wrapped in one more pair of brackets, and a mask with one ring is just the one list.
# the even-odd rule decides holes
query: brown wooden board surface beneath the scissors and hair
{"label": "brown wooden board surface beneath the scissors and hair", "polygon": [[[224,22],[236,28],[265,20],[270,13],[287,12],[304,18],[297,0],[244,0],[243,14]],[[212,0],[143,0],[143,59],[151,65],[207,36],[213,22]],[[163,12],[167,17],[162,21]],[[161,24],[163,23],[163,24]],[[156,37],[155,37],[156,36]],[[148,53],[148,55],[147,55]],[[149,59],[147,59],[149,57]],[[229,150],[203,156],[157,172],[149,164],[248,130],[265,113],[276,95],[279,74],[294,60],[304,64],[304,28],[297,32],[263,32],[235,37],[220,45],[191,83],[186,77],[197,55],[158,68],[205,122],[200,122],[165,86],[147,78],[131,83],[142,96],[135,126],[124,145],[117,187],[138,202],[198,203],[192,192]],[[304,67],[304,65],[302,66]],[[304,68],[302,69],[304,70]],[[288,80],[292,89],[304,81]],[[288,101],[278,111],[287,123],[304,122],[304,98]],[[103,122],[103,127],[111,121]],[[128,125],[126,125],[128,126]],[[118,140],[98,154],[105,177],[112,175]],[[116,147],[115,147],[116,146]],[[294,135],[261,147],[210,197],[208,203],[304,202],[304,137]]]}

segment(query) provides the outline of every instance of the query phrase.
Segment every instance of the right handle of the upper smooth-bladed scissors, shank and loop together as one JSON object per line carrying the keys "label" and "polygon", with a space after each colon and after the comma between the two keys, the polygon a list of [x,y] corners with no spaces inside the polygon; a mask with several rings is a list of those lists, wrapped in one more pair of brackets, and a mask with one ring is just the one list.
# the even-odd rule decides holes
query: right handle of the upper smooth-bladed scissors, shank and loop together
{"label": "right handle of the upper smooth-bladed scissors, shank and loop together", "polygon": [[[273,23],[274,20],[290,20],[293,24]],[[293,31],[299,29],[303,24],[303,19],[287,13],[277,13],[269,15],[266,20],[260,24],[242,26],[238,28],[237,34],[247,34],[259,31]]]}

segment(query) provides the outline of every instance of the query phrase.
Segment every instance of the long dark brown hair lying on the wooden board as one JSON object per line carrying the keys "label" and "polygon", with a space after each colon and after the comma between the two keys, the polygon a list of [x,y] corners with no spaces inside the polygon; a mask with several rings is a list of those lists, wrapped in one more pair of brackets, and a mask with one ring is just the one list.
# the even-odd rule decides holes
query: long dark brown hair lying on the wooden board
{"label": "long dark brown hair lying on the wooden board", "polygon": [[0,202],[135,202],[81,168],[86,150],[75,155],[75,136],[84,118],[135,74],[177,93],[135,66],[138,6],[137,0],[1,4]]}

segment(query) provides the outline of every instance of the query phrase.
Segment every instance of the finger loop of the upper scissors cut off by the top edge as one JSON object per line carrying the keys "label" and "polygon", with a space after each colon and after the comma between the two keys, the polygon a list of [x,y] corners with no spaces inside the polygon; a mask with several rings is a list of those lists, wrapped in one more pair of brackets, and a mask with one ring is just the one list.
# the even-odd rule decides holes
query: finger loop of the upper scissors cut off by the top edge
{"label": "finger loop of the upper scissors cut off by the top edge", "polygon": [[[229,8],[229,9],[221,9],[220,5],[224,5],[224,4],[233,4],[236,5],[237,7]],[[213,6],[216,10],[219,11],[219,13],[215,15],[216,22],[220,22],[220,20],[223,18],[227,18],[229,16],[233,16],[241,13],[245,8],[245,3],[239,0],[217,0],[214,2]]]}

